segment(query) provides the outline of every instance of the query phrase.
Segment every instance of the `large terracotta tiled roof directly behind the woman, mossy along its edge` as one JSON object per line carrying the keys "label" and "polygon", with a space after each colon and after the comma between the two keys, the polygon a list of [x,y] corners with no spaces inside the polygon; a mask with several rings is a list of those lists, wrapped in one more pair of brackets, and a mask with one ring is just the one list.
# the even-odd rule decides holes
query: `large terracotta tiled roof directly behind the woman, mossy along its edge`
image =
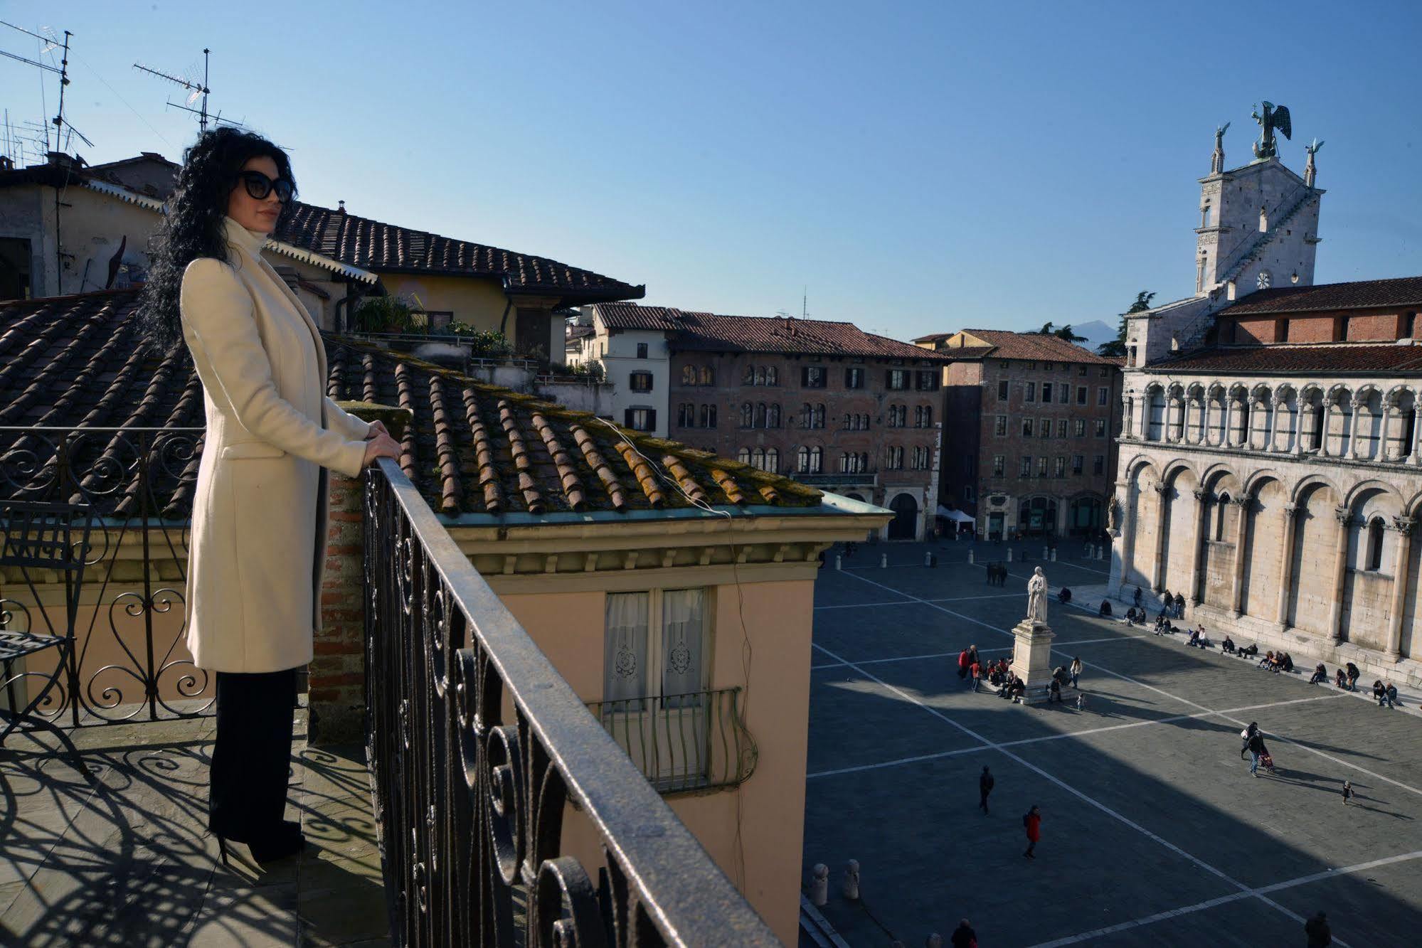
{"label": "large terracotta tiled roof directly behind the woman, mossy along its edge", "polygon": [[[135,355],[137,289],[0,303],[0,426],[202,428],[202,384],[185,347]],[[705,502],[816,506],[788,478],[621,429],[590,414],[485,385],[402,352],[326,337],[331,398],[400,405],[414,425],[400,465],[438,513],[685,509],[673,485]],[[46,451],[30,432],[0,432],[0,465]],[[102,456],[134,478],[115,432],[75,442],[77,468]],[[164,516],[192,509],[201,455],[149,466]],[[654,470],[648,459],[656,459]],[[119,463],[121,462],[121,463]],[[186,478],[179,480],[179,478]],[[668,483],[668,480],[671,483]],[[630,488],[629,488],[630,485]],[[101,513],[137,510],[137,480],[98,485]]]}

